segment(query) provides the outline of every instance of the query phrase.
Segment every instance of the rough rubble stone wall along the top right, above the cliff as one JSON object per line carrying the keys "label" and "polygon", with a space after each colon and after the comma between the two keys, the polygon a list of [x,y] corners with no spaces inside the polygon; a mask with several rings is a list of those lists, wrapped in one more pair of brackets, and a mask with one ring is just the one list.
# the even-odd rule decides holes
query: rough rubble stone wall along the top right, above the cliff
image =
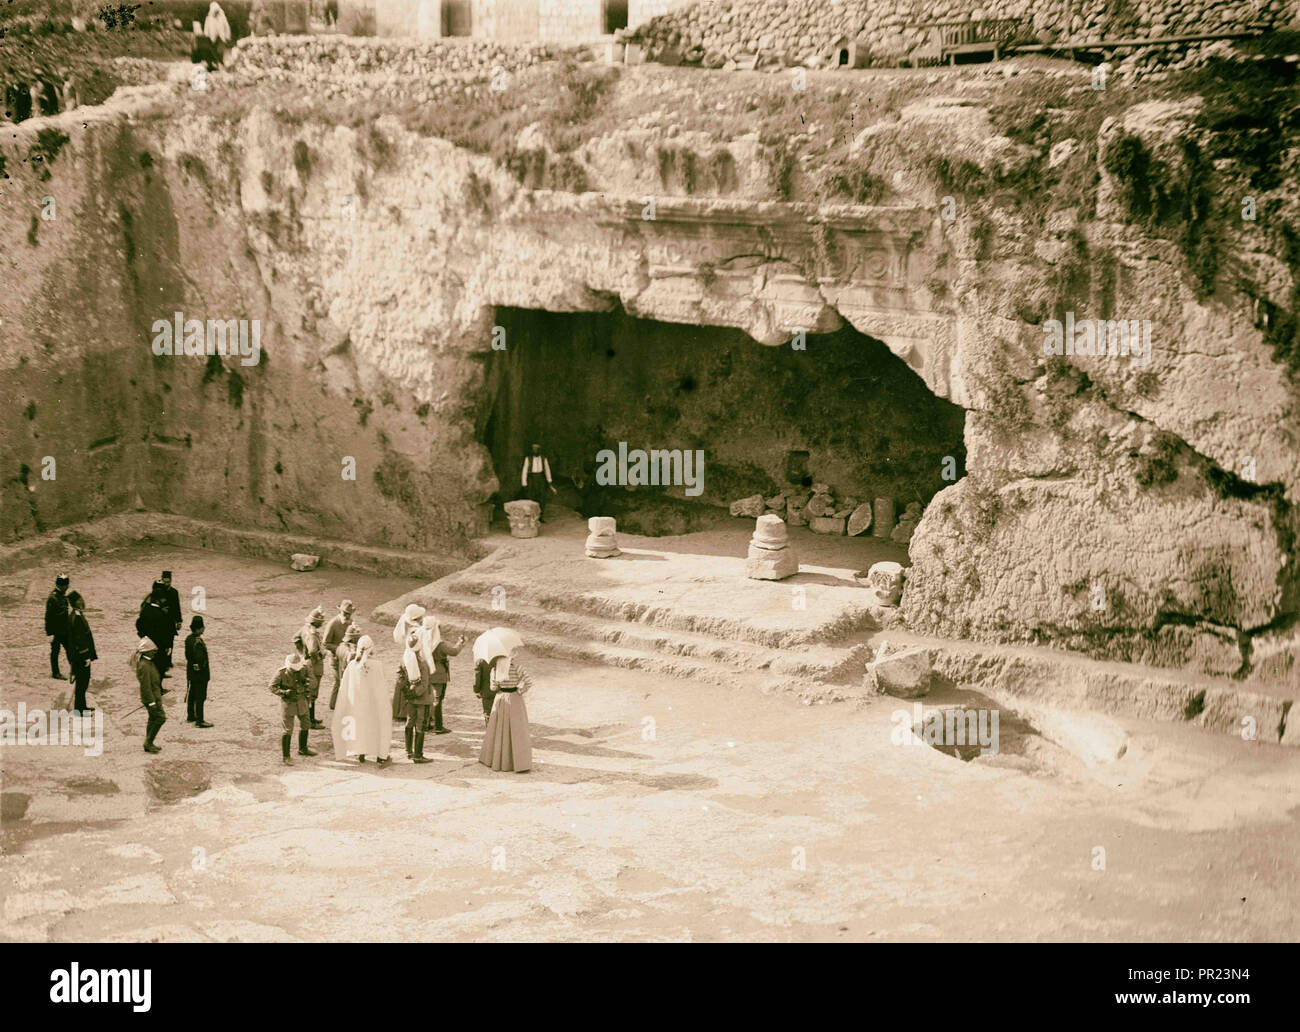
{"label": "rough rubble stone wall along the top right, above the cliff", "polygon": [[1095,40],[1239,31],[1284,26],[1300,16],[1296,0],[703,0],[640,23],[636,38],[651,56],[702,47],[706,60],[766,52],[792,61],[824,55],[857,39],[888,61],[923,51],[931,22],[1019,18],[1030,40]]}

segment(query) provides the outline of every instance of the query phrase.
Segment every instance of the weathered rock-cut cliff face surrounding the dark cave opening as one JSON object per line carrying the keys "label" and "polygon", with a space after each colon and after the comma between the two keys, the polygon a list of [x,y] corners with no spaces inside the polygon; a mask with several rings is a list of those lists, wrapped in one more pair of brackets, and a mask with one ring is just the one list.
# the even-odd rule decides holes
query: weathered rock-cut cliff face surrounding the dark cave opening
{"label": "weathered rock-cut cliff face surrounding the dark cave opening", "polygon": [[[1135,109],[1105,134],[1158,152],[1178,117]],[[1018,146],[942,103],[859,140],[902,172],[878,207],[533,191],[396,120],[354,130],[256,105],[181,117],[122,100],[56,131],[4,144],[6,539],[140,506],[455,547],[498,490],[482,424],[494,341],[511,346],[499,311],[783,347],[852,328],[966,411],[965,477],[913,539],[911,626],[1227,675],[1291,624],[1294,387],[1258,305],[1206,296],[1126,222],[1114,161],[1089,159],[1084,225],[1050,198],[1037,221],[948,218],[905,149],[931,134],[1006,166]],[[1149,324],[1150,352],[1046,354],[1067,308]],[[261,360],[155,355],[176,312],[257,320]],[[854,406],[852,385],[841,396]]]}

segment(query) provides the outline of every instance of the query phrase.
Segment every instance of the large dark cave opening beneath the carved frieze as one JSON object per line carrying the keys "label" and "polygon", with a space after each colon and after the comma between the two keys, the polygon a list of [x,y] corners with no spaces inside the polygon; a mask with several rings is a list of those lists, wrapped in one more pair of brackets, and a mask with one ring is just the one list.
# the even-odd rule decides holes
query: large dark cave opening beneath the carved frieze
{"label": "large dark cave opening beneath the carved frieze", "polygon": [[[641,534],[706,529],[731,521],[736,499],[814,484],[837,499],[892,498],[901,513],[928,504],[965,468],[963,409],[848,325],[809,335],[800,351],[621,309],[498,308],[495,325],[504,347],[486,359],[478,434],[500,482],[498,503],[523,497],[533,442],[559,490],[549,504],[612,515]],[[701,482],[601,482],[620,445],[702,452]]]}

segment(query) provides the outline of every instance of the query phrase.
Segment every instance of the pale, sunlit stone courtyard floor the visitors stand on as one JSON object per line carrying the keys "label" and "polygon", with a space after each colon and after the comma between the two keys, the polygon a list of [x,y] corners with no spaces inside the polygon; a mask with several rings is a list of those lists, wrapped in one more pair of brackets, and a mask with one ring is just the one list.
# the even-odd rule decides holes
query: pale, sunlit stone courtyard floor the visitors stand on
{"label": "pale, sunlit stone courtyard floor the visitors stand on", "polygon": [[[162,568],[182,600],[207,593],[216,727],[185,723],[172,680],[148,756],[126,655]],[[1027,773],[893,745],[896,699],[538,660],[538,762],[494,773],[465,658],[433,763],[335,762],[317,732],[322,755],[286,768],[266,684],[306,612],[351,597],[391,671],[364,617],[417,581],[146,547],[72,576],[107,743],[0,753],[0,938],[1300,937],[1300,750],[1117,719],[1122,759]],[[51,580],[0,574],[8,710],[69,701],[40,633]]]}

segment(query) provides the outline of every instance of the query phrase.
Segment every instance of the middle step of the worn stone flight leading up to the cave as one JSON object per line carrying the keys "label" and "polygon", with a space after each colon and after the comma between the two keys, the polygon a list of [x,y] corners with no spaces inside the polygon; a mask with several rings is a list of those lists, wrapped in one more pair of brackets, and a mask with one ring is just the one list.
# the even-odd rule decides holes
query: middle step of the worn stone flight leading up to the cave
{"label": "middle step of the worn stone flight leading up to the cave", "polygon": [[[731,672],[766,672],[794,681],[861,681],[862,662],[850,649],[822,647],[806,652],[770,649],[688,630],[599,620],[584,612],[549,610],[514,598],[503,610],[494,610],[490,602],[460,593],[443,595],[433,600],[432,606],[439,620],[446,624],[467,624],[476,630],[499,624],[528,629],[530,633],[541,632],[575,643],[592,642],[602,649],[655,654],[672,660],[692,660],[701,664],[676,664],[689,673],[703,669],[702,664],[710,664],[729,668]],[[733,678],[733,675],[728,676]]]}

